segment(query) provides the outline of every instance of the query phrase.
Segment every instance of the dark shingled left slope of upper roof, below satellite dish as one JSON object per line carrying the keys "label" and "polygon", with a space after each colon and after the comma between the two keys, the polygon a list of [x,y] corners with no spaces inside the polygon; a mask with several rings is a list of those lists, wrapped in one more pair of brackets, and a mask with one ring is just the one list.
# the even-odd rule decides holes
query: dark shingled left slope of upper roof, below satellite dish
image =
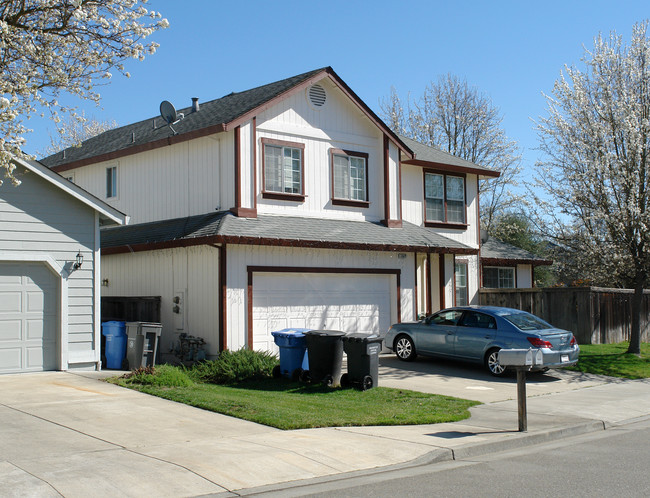
{"label": "dark shingled left slope of upper roof, below satellite dish", "polygon": [[[220,99],[201,103],[199,112],[193,113],[191,107],[179,109],[178,112],[182,112],[185,118],[173,125],[174,130],[178,135],[183,135],[230,123],[239,116],[263,105],[319,72],[329,69],[315,69],[275,83],[269,83],[243,92],[231,93]],[[69,147],[65,151],[57,152],[42,159],[41,162],[49,168],[62,166],[103,154],[141,147],[151,142],[166,139],[171,135],[172,131],[162,117],[156,116],[106,131],[86,140],[80,147]]]}

